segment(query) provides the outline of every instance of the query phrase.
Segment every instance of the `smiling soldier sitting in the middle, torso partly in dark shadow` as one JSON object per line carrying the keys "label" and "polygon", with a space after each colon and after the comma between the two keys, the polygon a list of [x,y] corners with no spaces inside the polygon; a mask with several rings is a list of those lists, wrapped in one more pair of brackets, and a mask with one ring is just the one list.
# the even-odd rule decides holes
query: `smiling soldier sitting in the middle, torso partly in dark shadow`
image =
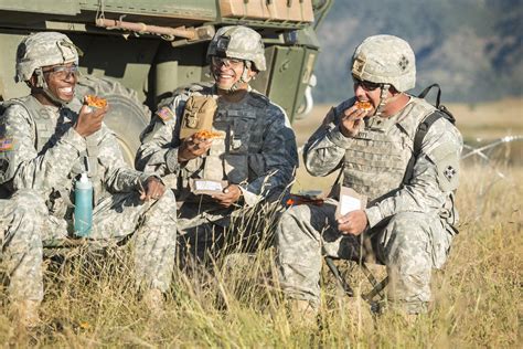
{"label": "smiling soldier sitting in the middle, torso partly in dark shadow", "polygon": [[[180,256],[200,260],[226,254],[225,245],[257,247],[259,236],[250,233],[258,230],[245,225],[257,220],[246,212],[264,219],[275,207],[266,203],[287,192],[298,165],[285,112],[249,86],[266,70],[260,35],[241,25],[221,28],[207,60],[214,84],[191,85],[160,104],[137,155],[137,168],[175,179]],[[202,127],[223,137],[193,137]],[[214,194],[195,194],[199,179],[226,183]]]}

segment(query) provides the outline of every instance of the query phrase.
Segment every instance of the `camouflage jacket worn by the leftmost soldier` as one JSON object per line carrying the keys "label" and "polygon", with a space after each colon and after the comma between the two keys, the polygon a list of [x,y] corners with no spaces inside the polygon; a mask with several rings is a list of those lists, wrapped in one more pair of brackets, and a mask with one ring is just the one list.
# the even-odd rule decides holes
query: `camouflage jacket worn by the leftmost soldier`
{"label": "camouflage jacket worn by the leftmost soldier", "polygon": [[73,129],[78,114],[72,110],[79,108],[76,99],[58,108],[28,96],[8,102],[1,119],[0,138],[12,142],[1,155],[7,162],[2,182],[14,191],[36,190],[56,216],[65,213],[82,172],[89,170],[95,197],[100,199],[110,192],[135,191],[138,181],[148,177],[126,165],[116,137],[105,125],[89,137],[79,136]]}

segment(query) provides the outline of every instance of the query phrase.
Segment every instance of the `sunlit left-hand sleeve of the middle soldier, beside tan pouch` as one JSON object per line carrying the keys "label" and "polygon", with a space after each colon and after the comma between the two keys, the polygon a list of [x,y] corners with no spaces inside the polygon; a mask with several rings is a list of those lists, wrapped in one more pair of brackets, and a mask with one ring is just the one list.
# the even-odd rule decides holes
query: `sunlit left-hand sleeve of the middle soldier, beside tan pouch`
{"label": "sunlit left-hand sleeve of the middle soldier, beside tan pouch", "polygon": [[140,136],[141,146],[136,156],[136,168],[146,173],[160,177],[178,173],[178,137],[180,116],[183,113],[185,98],[177,96],[167,106],[162,106],[153,115],[151,124]]}

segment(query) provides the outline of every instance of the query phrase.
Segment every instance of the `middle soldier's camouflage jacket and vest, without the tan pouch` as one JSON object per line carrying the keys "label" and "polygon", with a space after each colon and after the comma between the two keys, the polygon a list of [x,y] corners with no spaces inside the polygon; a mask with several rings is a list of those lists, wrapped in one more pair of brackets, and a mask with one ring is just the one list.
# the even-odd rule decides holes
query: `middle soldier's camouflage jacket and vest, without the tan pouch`
{"label": "middle soldier's camouflage jacket and vest, without the tan pouch", "polygon": [[[226,137],[214,139],[206,157],[180,166],[181,116],[192,95],[217,99],[213,128],[224,130]],[[141,141],[137,168],[160,176],[174,173],[182,198],[188,197],[189,178],[206,178],[205,171],[212,168],[218,179],[238,184],[245,203],[253,205],[286,192],[298,167],[296,137],[285,112],[253,89],[241,102],[227,103],[218,98],[215,86],[192,85],[159,106]]]}

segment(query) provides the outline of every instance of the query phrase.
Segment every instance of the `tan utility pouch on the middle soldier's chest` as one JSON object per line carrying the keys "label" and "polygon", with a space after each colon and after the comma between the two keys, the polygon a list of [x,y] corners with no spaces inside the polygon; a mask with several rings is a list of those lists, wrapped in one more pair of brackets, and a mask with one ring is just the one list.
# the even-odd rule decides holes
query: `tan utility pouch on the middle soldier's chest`
{"label": "tan utility pouch on the middle soldier's chest", "polygon": [[183,109],[180,127],[180,139],[190,137],[195,133],[213,128],[214,113],[216,112],[216,99],[209,96],[191,96]]}

